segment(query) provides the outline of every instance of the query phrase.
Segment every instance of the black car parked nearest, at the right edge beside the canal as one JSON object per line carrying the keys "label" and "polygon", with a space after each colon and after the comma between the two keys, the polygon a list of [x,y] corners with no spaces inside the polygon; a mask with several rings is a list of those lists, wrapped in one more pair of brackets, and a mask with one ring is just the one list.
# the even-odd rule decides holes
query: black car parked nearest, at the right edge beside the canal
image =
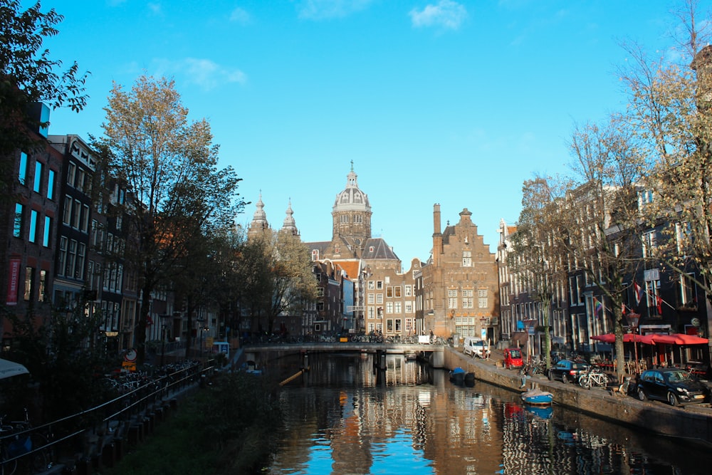
{"label": "black car parked nearest, at the right edge beside the canal", "polygon": [[638,399],[667,401],[671,406],[705,402],[709,390],[689,373],[679,368],[646,370],[636,384]]}

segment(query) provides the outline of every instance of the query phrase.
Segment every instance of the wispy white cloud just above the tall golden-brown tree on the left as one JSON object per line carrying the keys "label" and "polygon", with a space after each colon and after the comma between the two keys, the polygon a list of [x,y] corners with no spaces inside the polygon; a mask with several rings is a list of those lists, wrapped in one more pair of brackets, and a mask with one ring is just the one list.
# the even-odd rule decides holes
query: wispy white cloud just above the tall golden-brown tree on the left
{"label": "wispy white cloud just above the tall golden-brown tree on the left", "polygon": [[156,59],[155,75],[182,76],[187,83],[199,85],[204,90],[211,90],[227,83],[244,84],[247,76],[239,69],[228,69],[209,59],[184,58],[179,61]]}

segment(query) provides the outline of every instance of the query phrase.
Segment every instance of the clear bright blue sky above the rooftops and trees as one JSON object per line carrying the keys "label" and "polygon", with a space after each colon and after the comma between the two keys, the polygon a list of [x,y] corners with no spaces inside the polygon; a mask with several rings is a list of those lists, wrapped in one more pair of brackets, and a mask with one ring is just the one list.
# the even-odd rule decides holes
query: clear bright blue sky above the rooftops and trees
{"label": "clear bright blue sky above the rooftops and trees", "polygon": [[[703,9],[708,9],[702,1]],[[523,181],[565,172],[575,122],[625,97],[623,40],[669,48],[674,1],[54,0],[65,16],[45,46],[78,61],[83,112],[54,111],[50,133],[100,136],[116,81],[172,77],[193,120],[211,122],[221,165],[261,192],[280,227],[291,200],[304,241],[331,239],[353,161],[372,233],[404,263],[427,259],[468,208],[492,252],[518,219]]]}

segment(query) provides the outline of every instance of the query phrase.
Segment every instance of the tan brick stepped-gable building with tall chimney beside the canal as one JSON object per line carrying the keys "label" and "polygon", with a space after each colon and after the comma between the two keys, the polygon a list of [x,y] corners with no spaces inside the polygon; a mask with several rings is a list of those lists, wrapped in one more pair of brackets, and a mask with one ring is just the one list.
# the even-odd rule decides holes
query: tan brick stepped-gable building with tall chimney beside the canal
{"label": "tan brick stepped-gable building with tall chimney beside the canal", "polygon": [[433,209],[433,252],[422,268],[424,324],[437,336],[476,337],[496,343],[499,283],[496,255],[489,251],[467,208],[441,231],[440,205]]}

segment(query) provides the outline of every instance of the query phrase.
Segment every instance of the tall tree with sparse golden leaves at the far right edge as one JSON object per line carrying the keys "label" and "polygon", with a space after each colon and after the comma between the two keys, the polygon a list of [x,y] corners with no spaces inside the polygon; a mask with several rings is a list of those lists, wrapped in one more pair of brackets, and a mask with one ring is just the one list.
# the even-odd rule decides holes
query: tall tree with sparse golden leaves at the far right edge
{"label": "tall tree with sparse golden leaves at the far right edge", "polygon": [[[627,120],[651,162],[646,187],[653,201],[646,222],[664,239],[652,258],[689,278],[712,309],[712,48],[710,17],[699,21],[699,2],[687,0],[675,15],[676,61],[649,59],[642,48],[630,54],[621,78],[627,87]],[[696,273],[699,272],[699,278]],[[708,319],[708,335],[712,321]]]}

